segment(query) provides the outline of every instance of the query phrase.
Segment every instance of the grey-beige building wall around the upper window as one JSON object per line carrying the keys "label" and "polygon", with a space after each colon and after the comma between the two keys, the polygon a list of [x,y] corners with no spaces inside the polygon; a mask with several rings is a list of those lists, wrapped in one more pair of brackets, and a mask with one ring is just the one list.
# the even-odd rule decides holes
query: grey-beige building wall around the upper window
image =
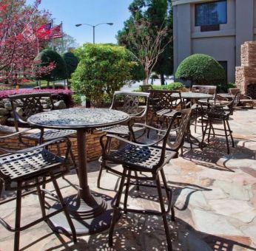
{"label": "grey-beige building wall around the upper window", "polygon": [[195,4],[203,2],[207,0],[172,0],[175,70],[187,56],[203,53],[227,61],[228,82],[234,83],[240,46],[256,40],[256,0],[227,0],[227,23],[220,24],[220,30],[208,32],[195,26]]}

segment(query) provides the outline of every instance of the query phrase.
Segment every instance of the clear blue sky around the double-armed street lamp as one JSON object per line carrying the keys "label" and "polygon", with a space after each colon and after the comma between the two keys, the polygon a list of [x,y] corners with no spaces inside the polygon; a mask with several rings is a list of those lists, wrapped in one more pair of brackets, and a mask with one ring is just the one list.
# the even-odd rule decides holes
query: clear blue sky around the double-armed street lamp
{"label": "clear blue sky around the double-armed street lamp", "polygon": [[[33,0],[27,0],[32,3]],[[39,10],[49,10],[53,23],[63,22],[63,31],[75,38],[78,44],[92,43],[92,27],[75,24],[101,24],[95,27],[95,43],[114,43],[118,30],[124,27],[129,18],[129,4],[132,0],[41,0]]]}

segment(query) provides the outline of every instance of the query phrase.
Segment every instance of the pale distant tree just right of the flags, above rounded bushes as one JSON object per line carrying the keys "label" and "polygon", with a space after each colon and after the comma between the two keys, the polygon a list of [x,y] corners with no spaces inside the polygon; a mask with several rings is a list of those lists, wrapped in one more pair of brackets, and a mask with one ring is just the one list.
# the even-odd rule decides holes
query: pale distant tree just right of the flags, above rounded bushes
{"label": "pale distant tree just right of the flags, above rounded bushes", "polygon": [[55,38],[53,40],[53,49],[59,54],[68,52],[70,48],[76,47],[78,47],[78,43],[76,43],[75,38],[65,33],[63,35],[63,38]]}

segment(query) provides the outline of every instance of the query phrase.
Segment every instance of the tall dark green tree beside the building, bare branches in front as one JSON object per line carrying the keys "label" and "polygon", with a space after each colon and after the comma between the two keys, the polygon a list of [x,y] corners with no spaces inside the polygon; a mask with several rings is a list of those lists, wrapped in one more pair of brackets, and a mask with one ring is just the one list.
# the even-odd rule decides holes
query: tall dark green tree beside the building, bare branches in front
{"label": "tall dark green tree beside the building, bare branches in front", "polygon": [[130,49],[144,65],[146,82],[150,72],[170,75],[173,70],[172,9],[170,0],[134,0],[132,16],[118,31],[118,44]]}

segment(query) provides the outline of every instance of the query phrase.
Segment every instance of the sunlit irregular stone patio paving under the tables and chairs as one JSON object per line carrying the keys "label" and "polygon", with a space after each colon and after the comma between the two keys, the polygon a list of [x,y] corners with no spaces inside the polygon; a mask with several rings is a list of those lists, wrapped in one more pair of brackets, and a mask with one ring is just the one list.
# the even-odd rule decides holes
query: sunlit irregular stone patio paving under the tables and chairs
{"label": "sunlit irregular stone patio paving under the tables and chairs", "polygon": [[[212,138],[200,151],[186,151],[164,168],[175,190],[176,222],[172,224],[174,250],[256,250],[256,109],[238,110],[230,125],[236,148],[226,154],[223,138]],[[199,130],[198,130],[199,131]],[[96,188],[98,162],[90,162],[90,188],[106,196],[115,195],[118,176],[104,172],[102,189]],[[59,179],[64,196],[74,194],[76,174]],[[128,204],[136,208],[158,208],[155,191],[130,190]],[[4,198],[13,196],[4,193]],[[138,196],[138,199],[135,198]],[[50,204],[53,201],[48,200]],[[23,222],[41,214],[37,196],[23,202]],[[4,204],[0,214],[13,221],[15,203]],[[21,233],[21,250],[166,250],[161,218],[128,213],[115,227],[115,247],[107,245],[108,232],[79,236],[73,244],[65,235],[52,233],[45,223]],[[13,234],[0,226],[0,250],[13,249]]]}

